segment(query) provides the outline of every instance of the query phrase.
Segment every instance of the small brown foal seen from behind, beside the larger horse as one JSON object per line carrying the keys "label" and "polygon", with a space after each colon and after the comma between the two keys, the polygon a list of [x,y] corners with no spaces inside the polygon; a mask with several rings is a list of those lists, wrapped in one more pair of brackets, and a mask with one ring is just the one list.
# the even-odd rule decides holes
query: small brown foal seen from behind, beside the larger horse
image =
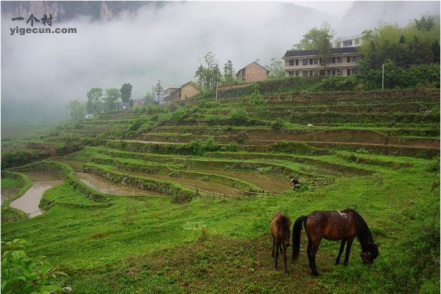
{"label": "small brown foal seen from behind, beside the larger horse", "polygon": [[277,270],[277,259],[278,259],[278,251],[280,249],[283,254],[283,262],[285,263],[285,275],[288,274],[287,268],[287,247],[289,247],[289,233],[291,229],[291,221],[289,221],[289,217],[284,215],[283,213],[276,213],[274,215],[271,226],[271,234],[273,235],[273,253],[272,257],[274,257],[274,248],[276,248],[276,260],[274,264],[274,269]]}

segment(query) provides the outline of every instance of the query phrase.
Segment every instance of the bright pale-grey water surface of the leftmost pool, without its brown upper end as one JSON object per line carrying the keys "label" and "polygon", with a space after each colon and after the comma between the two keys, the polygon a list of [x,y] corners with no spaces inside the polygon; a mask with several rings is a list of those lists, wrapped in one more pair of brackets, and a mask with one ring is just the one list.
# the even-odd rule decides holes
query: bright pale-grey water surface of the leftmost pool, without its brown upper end
{"label": "bright pale-grey water surface of the leftmost pool, without its brown upper end", "polygon": [[[50,177],[50,176],[48,176]],[[42,175],[41,178],[45,178]],[[30,217],[36,217],[41,215],[44,211],[39,208],[41,197],[45,190],[52,188],[55,185],[61,184],[63,181],[45,181],[45,182],[34,182],[34,184],[23,194],[19,199],[15,199],[11,202],[10,206],[19,210],[24,211]]]}

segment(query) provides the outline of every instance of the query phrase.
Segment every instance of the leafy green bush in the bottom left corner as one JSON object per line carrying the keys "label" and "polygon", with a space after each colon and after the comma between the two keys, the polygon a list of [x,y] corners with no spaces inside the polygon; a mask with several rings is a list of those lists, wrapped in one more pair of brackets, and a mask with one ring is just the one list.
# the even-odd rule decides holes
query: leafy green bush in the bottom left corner
{"label": "leafy green bush in the bottom left corner", "polygon": [[43,257],[31,258],[23,250],[27,242],[14,239],[1,241],[2,293],[49,293],[62,291],[57,275],[66,275],[43,261]]}

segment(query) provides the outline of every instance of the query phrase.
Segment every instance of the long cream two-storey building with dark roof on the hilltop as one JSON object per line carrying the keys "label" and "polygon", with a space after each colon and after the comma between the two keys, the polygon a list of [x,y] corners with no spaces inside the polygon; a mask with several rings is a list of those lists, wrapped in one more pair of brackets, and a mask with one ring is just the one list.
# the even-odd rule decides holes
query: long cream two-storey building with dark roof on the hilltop
{"label": "long cream two-storey building with dark roof on the hilltop", "polygon": [[333,48],[327,57],[326,72],[323,56],[318,50],[287,50],[285,77],[348,76],[357,75],[362,53],[355,47]]}

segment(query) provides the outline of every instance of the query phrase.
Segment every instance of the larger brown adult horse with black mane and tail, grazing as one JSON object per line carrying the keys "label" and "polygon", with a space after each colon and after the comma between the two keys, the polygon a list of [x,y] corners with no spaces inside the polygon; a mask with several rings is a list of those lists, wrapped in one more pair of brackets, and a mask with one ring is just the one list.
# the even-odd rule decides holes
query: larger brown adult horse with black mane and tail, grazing
{"label": "larger brown adult horse with black mane and tail, grazing", "polygon": [[373,243],[372,234],[371,231],[369,231],[365,219],[363,219],[356,210],[314,211],[314,213],[309,215],[298,217],[294,224],[292,230],[293,262],[298,259],[302,224],[305,226],[305,231],[308,235],[307,253],[309,268],[311,268],[313,275],[318,275],[316,253],[322,238],[333,241],[342,240],[336,264],[340,263],[340,257],[345,249],[345,244],[347,243],[344,262],[344,264],[347,265],[349,262],[349,253],[351,253],[352,242],[355,237],[358,238],[358,241],[361,244],[362,253],[360,256],[363,263],[371,265],[373,259],[376,259],[379,255],[378,245]]}

